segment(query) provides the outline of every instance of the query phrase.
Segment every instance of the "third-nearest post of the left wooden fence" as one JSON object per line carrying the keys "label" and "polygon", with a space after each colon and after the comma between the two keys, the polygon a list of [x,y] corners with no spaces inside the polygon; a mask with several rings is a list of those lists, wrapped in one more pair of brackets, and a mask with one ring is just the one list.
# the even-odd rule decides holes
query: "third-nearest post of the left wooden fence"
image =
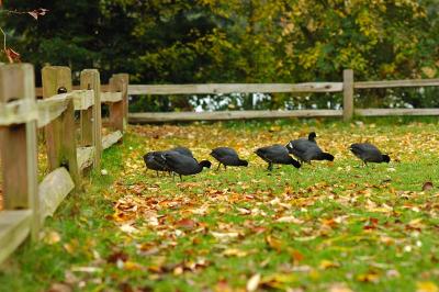
{"label": "third-nearest post of the left wooden fence", "polygon": [[81,89],[94,91],[94,105],[81,111],[81,146],[94,147],[93,167],[101,168],[102,155],[102,117],[101,117],[101,79],[97,69],[81,71]]}

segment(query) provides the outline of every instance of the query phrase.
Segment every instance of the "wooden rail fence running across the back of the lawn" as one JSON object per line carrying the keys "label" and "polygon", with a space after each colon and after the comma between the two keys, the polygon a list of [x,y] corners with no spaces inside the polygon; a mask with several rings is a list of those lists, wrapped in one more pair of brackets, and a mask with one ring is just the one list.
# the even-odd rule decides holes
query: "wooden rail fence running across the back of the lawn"
{"label": "wooden rail fence running across the back of the lawn", "polygon": [[308,83],[211,83],[211,85],[133,85],[128,87],[130,96],[140,94],[219,94],[219,93],[292,93],[292,92],[342,92],[342,110],[293,110],[293,111],[218,111],[218,112],[144,112],[130,113],[132,123],[172,122],[172,121],[217,121],[238,119],[275,119],[305,116],[339,116],[349,121],[353,115],[439,115],[439,109],[354,109],[354,90],[398,87],[439,86],[439,79],[354,81],[353,70],[344,71],[342,82]]}

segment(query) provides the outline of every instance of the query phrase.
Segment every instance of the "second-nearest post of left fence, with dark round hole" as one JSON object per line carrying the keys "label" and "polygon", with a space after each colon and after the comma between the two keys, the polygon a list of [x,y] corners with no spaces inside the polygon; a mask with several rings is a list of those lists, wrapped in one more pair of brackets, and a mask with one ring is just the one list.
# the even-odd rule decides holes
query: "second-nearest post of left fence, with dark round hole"
{"label": "second-nearest post of left fence, with dark round hole", "polygon": [[[71,91],[71,71],[68,67],[47,66],[42,70],[43,98],[63,91]],[[75,105],[69,101],[67,110],[45,128],[49,169],[66,167],[77,190],[81,187],[78,168],[75,131]]]}

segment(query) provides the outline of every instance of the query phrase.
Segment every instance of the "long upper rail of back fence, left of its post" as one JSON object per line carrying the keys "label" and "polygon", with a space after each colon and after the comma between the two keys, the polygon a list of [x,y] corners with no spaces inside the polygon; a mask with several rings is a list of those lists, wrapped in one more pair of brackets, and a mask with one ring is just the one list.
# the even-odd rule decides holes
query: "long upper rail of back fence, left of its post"
{"label": "long upper rail of back fence, left of its post", "polygon": [[136,85],[128,86],[128,94],[219,94],[277,92],[340,92],[341,82],[306,83],[211,83],[211,85]]}

